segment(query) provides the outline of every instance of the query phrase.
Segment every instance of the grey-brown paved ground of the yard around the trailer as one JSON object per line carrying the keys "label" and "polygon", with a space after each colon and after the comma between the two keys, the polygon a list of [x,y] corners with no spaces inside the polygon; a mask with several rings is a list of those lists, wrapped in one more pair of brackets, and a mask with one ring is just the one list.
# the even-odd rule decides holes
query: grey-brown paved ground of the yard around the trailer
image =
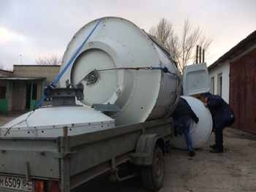
{"label": "grey-brown paved ground of the yard around the trailer", "polygon": [[[0,126],[17,114],[0,116]],[[225,128],[225,153],[209,153],[214,134],[194,158],[187,151],[172,149],[165,156],[165,184],[161,192],[256,191],[256,135]],[[110,183],[105,176],[80,186],[75,192],[143,192],[140,180]]]}

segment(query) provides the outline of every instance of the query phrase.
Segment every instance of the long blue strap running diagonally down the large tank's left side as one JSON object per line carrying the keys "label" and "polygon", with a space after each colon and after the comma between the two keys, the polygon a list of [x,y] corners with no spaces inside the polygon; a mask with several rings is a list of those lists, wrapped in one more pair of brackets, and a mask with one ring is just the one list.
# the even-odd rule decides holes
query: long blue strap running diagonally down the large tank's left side
{"label": "long blue strap running diagonally down the large tank's left side", "polygon": [[[86,42],[88,41],[88,39],[91,37],[91,34],[94,33],[95,29],[97,28],[97,26],[99,26],[101,19],[99,19],[99,21],[96,23],[96,25],[94,26],[94,28],[91,30],[90,34],[86,37],[86,39],[83,41],[82,45],[80,45],[80,47],[78,48],[78,50],[75,52],[75,54],[72,56],[72,58],[70,58],[69,62],[67,63],[67,65],[64,67],[64,69],[62,69],[62,71],[59,73],[58,77],[56,77],[56,79],[48,86],[48,90],[53,90],[54,88],[56,88],[57,83],[59,82],[59,80],[61,79],[61,77],[63,76],[63,74],[67,71],[67,69],[69,68],[69,66],[72,64],[72,62],[75,60],[75,58],[78,56],[78,53],[80,53],[80,50],[83,48],[83,46],[86,44]],[[47,98],[47,95],[44,94],[41,99],[37,102],[36,106],[34,107],[34,110],[37,109],[38,107],[40,107],[42,105],[42,102],[45,101],[45,99]]]}

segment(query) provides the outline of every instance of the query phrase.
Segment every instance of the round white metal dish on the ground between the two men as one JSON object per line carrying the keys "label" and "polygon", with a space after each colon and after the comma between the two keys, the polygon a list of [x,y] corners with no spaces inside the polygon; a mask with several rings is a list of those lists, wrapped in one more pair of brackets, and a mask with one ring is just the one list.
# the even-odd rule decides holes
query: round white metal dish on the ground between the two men
{"label": "round white metal dish on the ground between the two men", "polygon": [[[192,96],[182,96],[182,98],[186,99],[192,110],[199,118],[198,123],[195,123],[194,120],[191,120],[190,123],[190,134],[192,137],[193,147],[197,148],[203,145],[211,135],[211,113],[200,100],[195,99]],[[182,150],[187,149],[187,142],[184,134],[170,139],[170,145]]]}

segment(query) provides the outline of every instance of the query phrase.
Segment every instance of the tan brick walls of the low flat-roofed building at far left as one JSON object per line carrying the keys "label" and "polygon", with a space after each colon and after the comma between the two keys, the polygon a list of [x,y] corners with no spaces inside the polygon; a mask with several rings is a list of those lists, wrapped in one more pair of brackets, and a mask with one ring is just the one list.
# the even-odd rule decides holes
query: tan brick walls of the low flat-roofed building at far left
{"label": "tan brick walls of the low flat-roofed building at far left", "polygon": [[[2,105],[5,104],[9,112],[10,110],[26,110],[26,100],[29,93],[27,94],[27,83],[33,82],[37,84],[37,98],[31,99],[31,102],[37,103],[40,97],[43,94],[43,88],[45,82],[53,82],[58,76],[60,66],[39,66],[39,65],[15,65],[13,66],[13,72],[8,72],[0,69],[0,77],[45,77],[46,80],[3,80],[1,83],[4,83],[4,86],[7,87],[8,83],[8,92],[6,99],[1,99]],[[59,85],[57,85],[59,86]],[[4,102],[4,103],[3,103]],[[29,101],[28,101],[29,102]],[[29,103],[28,103],[29,104]],[[31,104],[31,103],[30,103]],[[0,110],[1,111],[1,110]],[[4,110],[6,111],[6,110]]]}

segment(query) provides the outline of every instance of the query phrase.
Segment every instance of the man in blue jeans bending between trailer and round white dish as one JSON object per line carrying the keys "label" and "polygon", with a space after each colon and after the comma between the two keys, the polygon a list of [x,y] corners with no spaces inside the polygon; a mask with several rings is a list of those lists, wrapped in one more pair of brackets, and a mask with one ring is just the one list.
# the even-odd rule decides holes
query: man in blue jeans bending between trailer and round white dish
{"label": "man in blue jeans bending between trailer and round white dish", "polygon": [[[189,132],[191,118],[195,121],[195,123],[197,123],[199,120],[197,118],[197,115],[195,115],[195,112],[193,112],[193,110],[187,103],[186,99],[180,97],[178,100],[178,105],[173,112],[174,130],[176,135],[183,133],[185,134],[187,141],[187,149],[189,150],[189,156],[193,157],[195,156],[195,151],[192,145],[192,139]],[[179,126],[181,126],[181,132],[178,132]]]}

